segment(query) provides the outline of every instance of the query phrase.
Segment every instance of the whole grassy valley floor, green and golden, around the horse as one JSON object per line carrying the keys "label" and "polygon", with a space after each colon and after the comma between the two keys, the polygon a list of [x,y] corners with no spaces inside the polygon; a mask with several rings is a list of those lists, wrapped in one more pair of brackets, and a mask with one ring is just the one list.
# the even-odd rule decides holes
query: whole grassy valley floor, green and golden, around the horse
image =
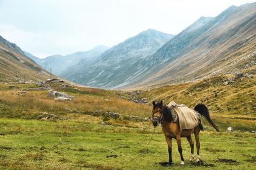
{"label": "whole grassy valley floor, green and golden, around the horse", "polygon": [[[244,86],[248,88],[240,89],[244,92],[241,99],[249,97],[249,100],[254,101],[255,96],[251,94],[255,87],[250,85],[254,80],[251,83],[241,83],[245,83]],[[170,169],[159,164],[168,160],[167,145],[161,127],[157,127],[151,143],[145,148],[153,132],[152,123],[127,120],[125,117],[151,117],[150,103],[155,98],[175,100],[193,106],[196,101],[189,103],[189,100],[195,93],[200,102],[200,99],[204,99],[202,93],[211,94],[214,88],[220,88],[218,90],[227,92],[226,94],[237,90],[235,85],[231,91],[221,89],[221,85],[203,88],[204,86],[205,81],[150,90],[137,96],[147,97],[149,103],[137,104],[129,100],[126,92],[52,85],[52,89],[74,96],[72,102],[56,102],[47,97],[47,90],[31,90],[38,88],[35,84],[2,84],[0,169]],[[202,89],[196,90],[198,88]],[[221,95],[217,94],[215,97],[217,103],[223,101],[219,98]],[[227,97],[225,94],[222,96]],[[182,139],[186,165],[181,167],[177,144],[173,140],[175,164],[172,168],[255,169],[256,134],[249,132],[256,129],[253,103],[246,105],[252,111],[249,114],[232,112],[239,103],[230,103],[230,111],[225,111],[218,105],[223,110],[220,115],[211,101],[212,98],[209,97],[205,103],[221,133],[214,132],[211,128],[201,133],[200,155],[205,164],[196,166],[189,163],[190,148],[186,145],[186,139]],[[95,115],[99,110],[102,113],[118,112],[122,117],[115,119]],[[54,114],[58,118],[40,120],[38,117],[45,113]],[[102,125],[104,121],[108,125]],[[209,126],[203,122],[205,126]],[[229,126],[235,131],[225,132]],[[140,157],[131,160],[122,153],[128,157]],[[225,159],[234,161],[225,162]]]}

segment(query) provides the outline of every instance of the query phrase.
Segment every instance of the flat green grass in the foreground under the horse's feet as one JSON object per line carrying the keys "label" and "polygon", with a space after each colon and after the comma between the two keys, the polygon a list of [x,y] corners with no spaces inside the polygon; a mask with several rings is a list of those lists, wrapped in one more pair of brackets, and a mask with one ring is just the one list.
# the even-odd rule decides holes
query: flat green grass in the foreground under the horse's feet
{"label": "flat green grass in the foreground under the horse's feet", "polygon": [[[144,129],[140,125],[136,128],[106,127],[100,125],[101,121],[90,116],[80,121],[58,122],[0,118],[0,168],[168,169],[158,164],[168,160],[160,127],[145,150],[152,132],[151,124],[144,124]],[[255,138],[255,134],[250,133],[202,132],[200,155],[205,163],[214,164],[211,169],[255,169]],[[182,144],[186,143],[182,139]],[[182,169],[205,169],[189,163],[189,145],[182,149],[186,159]],[[119,152],[129,157],[141,156],[130,160]],[[238,163],[219,162],[218,159],[232,159]],[[173,161],[173,169],[180,169],[175,140]]]}

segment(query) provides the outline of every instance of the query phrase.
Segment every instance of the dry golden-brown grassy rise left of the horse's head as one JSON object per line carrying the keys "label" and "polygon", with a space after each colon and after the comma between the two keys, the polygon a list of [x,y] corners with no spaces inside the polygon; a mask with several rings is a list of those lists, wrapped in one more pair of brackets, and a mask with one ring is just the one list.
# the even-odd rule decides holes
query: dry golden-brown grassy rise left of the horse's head
{"label": "dry golden-brown grassy rise left of the horse's head", "polygon": [[150,116],[148,106],[122,99],[111,91],[64,85],[52,84],[51,88],[74,96],[72,102],[56,102],[47,97],[47,90],[35,90],[39,89],[35,84],[0,85],[1,117],[36,118],[44,112],[65,117],[76,113],[92,115],[95,111]]}

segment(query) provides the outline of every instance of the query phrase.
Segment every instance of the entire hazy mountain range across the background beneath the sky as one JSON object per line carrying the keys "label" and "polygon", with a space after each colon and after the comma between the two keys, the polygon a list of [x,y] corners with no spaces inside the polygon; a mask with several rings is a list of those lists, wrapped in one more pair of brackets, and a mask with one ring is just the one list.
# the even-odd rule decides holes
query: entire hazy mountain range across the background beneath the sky
{"label": "entire hazy mountain range across the background beneath the sky", "polygon": [[[61,78],[103,89],[134,89],[193,81],[216,73],[236,73],[236,64],[239,64],[236,61],[255,52],[255,23],[256,3],[230,6],[216,17],[198,18],[176,36],[148,29],[111,48],[96,46],[86,52],[51,55],[45,59],[23,52],[19,46],[1,37],[0,61],[4,66],[7,58],[18,57],[19,62],[15,60],[12,64],[22,67],[27,63],[22,68],[27,69],[29,65],[26,73],[32,69],[33,74],[37,71],[36,74],[49,75],[47,71],[51,69]],[[236,64],[227,67],[230,63]]]}

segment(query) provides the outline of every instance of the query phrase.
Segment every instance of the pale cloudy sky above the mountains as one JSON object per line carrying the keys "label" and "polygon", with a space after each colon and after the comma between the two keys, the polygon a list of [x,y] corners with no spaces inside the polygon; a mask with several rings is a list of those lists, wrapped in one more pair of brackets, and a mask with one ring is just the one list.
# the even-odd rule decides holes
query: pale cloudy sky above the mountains
{"label": "pale cloudy sky above the mountains", "polygon": [[147,29],[178,34],[255,0],[0,0],[0,35],[37,57],[113,46]]}

